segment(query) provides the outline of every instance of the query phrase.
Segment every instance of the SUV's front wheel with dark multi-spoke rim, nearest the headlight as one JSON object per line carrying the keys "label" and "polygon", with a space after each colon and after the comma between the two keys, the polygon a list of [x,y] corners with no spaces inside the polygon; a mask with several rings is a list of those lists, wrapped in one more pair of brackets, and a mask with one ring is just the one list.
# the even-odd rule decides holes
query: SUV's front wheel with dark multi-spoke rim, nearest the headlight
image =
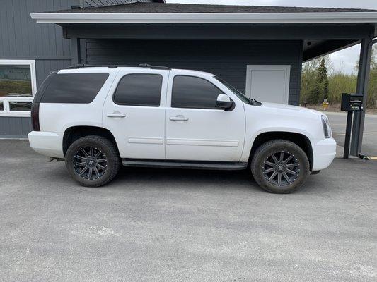
{"label": "SUV's front wheel with dark multi-spoke rim, nearest the headlight", "polygon": [[251,161],[251,171],[263,189],[286,194],[303,185],[310,167],[306,153],[294,142],[272,140],[257,149]]}

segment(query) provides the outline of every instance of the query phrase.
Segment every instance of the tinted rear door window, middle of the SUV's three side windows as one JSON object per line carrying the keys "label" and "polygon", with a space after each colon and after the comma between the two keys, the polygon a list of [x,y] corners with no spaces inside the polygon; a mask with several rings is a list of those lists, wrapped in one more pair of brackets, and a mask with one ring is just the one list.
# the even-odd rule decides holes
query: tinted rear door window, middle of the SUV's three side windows
{"label": "tinted rear door window, middle of the SUV's three side windows", "polygon": [[124,75],[115,90],[115,104],[160,106],[162,75],[132,73]]}

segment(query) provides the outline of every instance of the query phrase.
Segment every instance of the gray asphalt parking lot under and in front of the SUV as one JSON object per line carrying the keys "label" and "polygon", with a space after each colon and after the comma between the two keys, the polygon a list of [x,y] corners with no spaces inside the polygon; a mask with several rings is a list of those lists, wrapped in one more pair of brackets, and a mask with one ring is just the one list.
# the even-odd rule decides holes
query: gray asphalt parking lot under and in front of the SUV
{"label": "gray asphalt parking lot under and in front of the SUV", "polygon": [[247,171],[123,169],[83,188],[0,140],[0,281],[376,281],[377,161],[291,195]]}

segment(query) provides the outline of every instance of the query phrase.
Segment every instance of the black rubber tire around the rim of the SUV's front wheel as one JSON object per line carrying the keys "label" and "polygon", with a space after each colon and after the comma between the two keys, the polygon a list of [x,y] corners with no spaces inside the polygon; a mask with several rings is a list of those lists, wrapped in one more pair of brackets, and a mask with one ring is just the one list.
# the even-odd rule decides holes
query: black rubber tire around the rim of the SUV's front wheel
{"label": "black rubber tire around the rim of the SUV's front wheel", "polygon": [[[272,180],[269,180],[269,176],[272,175],[269,174],[269,176],[267,176],[267,173],[265,172],[269,170],[267,168],[274,168],[274,170],[270,171],[269,173],[274,173],[274,171],[277,171],[278,174],[284,173],[283,169],[286,168],[282,168],[282,166],[280,165],[281,162],[278,162],[277,166],[275,167],[267,166],[266,164],[267,159],[272,156],[272,154],[280,154],[281,152],[284,152],[283,156],[286,156],[286,159],[288,159],[289,154],[291,154],[298,166],[296,166],[296,171],[294,171],[297,173],[297,175],[292,175],[292,177],[294,178],[294,180],[292,180],[292,183],[289,183],[284,179],[285,183],[281,181],[281,185],[278,185],[277,183],[272,183]],[[270,163],[271,161],[269,161],[269,164]],[[282,164],[285,167],[284,161],[282,162]],[[263,188],[267,192],[277,194],[288,194],[298,190],[298,188],[301,188],[303,183],[305,183],[306,178],[310,173],[310,165],[306,153],[303,151],[303,149],[301,149],[301,147],[288,140],[271,140],[260,145],[260,147],[258,147],[253,154],[250,168],[255,181],[258,185],[260,185],[261,188]],[[277,176],[275,176],[275,178],[277,178]]]}

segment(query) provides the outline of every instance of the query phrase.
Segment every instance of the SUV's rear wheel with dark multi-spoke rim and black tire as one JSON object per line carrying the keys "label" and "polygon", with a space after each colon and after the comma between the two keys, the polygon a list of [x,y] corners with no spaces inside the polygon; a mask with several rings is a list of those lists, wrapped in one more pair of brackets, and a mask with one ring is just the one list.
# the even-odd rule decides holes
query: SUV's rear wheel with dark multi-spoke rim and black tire
{"label": "SUV's rear wheel with dark multi-spoke rim and black tire", "polygon": [[83,186],[109,183],[120,168],[115,145],[105,137],[90,135],[74,141],[66,151],[66,168]]}

